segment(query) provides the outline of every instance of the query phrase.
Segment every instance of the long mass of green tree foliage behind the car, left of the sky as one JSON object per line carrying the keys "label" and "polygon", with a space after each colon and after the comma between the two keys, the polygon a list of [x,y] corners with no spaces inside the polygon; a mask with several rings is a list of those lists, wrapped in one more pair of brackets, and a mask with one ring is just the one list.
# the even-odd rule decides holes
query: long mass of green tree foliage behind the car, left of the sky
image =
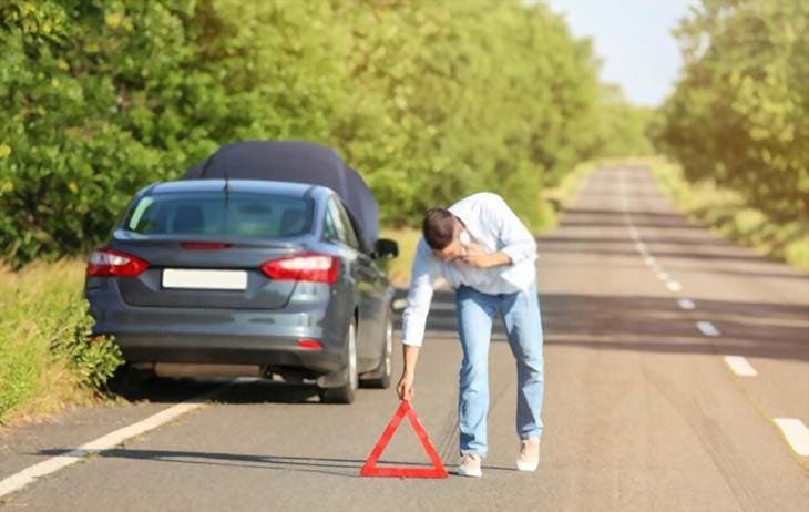
{"label": "long mass of green tree foliage behind the car, left of the sky", "polygon": [[590,43],[519,0],[9,0],[0,248],[86,250],[135,190],[249,139],[337,147],[386,224],[484,188],[535,219],[637,133],[604,91]]}

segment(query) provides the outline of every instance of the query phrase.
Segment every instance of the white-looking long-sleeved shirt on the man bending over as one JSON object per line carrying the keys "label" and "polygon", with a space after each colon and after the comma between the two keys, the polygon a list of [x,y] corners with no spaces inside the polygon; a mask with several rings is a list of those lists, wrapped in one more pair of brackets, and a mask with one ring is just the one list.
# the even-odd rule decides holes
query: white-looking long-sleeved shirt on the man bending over
{"label": "white-looking long-sleeved shirt on the man bending over", "polygon": [[404,345],[421,346],[439,277],[452,288],[465,285],[492,295],[524,290],[536,280],[536,242],[502,197],[481,192],[459,201],[449,211],[467,226],[471,243],[485,253],[502,250],[511,258],[511,265],[479,268],[460,260],[443,262],[432,254],[422,237],[416,249],[410,291],[402,314]]}

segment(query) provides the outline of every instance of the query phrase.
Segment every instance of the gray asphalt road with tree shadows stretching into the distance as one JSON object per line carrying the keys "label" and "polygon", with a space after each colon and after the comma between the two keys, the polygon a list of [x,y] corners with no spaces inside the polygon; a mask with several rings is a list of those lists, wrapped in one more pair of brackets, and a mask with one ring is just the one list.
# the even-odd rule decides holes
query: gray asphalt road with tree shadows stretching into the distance
{"label": "gray asphalt road with tree shadows stretching into the distance", "polygon": [[[809,424],[809,277],[689,226],[643,168],[596,172],[539,246],[546,428],[536,473],[512,469],[514,362],[499,327],[482,479],[359,478],[398,406],[392,390],[361,390],[346,407],[320,405],[306,387],[163,382],[129,406],[7,432],[0,480],[215,395],[0,503],[72,512],[809,509],[809,457],[775,422]],[[725,356],[741,359],[731,368]],[[452,297],[439,293],[414,408],[450,471],[459,362]],[[409,427],[383,460],[426,462]]]}

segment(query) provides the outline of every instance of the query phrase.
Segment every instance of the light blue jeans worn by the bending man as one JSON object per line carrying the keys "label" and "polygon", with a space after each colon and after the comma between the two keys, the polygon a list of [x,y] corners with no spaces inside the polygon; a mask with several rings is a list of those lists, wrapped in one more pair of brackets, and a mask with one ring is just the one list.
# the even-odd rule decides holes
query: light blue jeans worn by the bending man
{"label": "light blue jeans worn by the bending man", "polygon": [[489,295],[469,286],[455,290],[458,330],[463,348],[459,375],[458,419],[461,453],[485,457],[489,413],[489,344],[492,319],[500,313],[516,359],[516,434],[542,436],[545,381],[542,320],[536,286],[515,294]]}

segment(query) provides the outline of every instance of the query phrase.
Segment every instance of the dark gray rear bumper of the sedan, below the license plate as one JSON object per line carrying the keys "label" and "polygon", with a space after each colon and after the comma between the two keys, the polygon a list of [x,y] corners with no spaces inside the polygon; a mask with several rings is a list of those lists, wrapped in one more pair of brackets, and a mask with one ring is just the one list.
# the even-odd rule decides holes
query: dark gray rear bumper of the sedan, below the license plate
{"label": "dark gray rear bumper of the sedan, below the license plate", "polygon": [[[267,371],[306,370],[320,376],[345,365],[339,305],[321,300],[283,309],[203,309],[131,306],[114,286],[88,289],[94,335],[110,335],[133,363],[258,365]],[[321,349],[303,348],[300,339]],[[280,372],[280,371],[278,371]]]}

